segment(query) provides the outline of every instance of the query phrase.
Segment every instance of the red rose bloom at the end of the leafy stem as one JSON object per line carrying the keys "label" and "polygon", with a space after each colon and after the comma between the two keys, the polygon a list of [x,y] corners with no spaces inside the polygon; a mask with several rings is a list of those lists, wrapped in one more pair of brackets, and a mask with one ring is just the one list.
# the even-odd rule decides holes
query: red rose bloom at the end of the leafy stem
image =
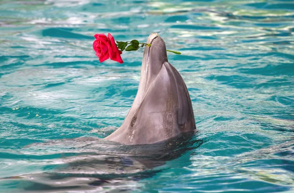
{"label": "red rose bloom at the end of the leafy stem", "polygon": [[108,33],[108,37],[106,37],[104,33],[95,34],[94,37],[96,40],[93,42],[93,49],[96,51],[96,55],[100,62],[104,62],[110,57],[110,60],[117,61],[121,64],[123,63],[121,57],[123,52],[116,46],[114,38],[110,33]]}

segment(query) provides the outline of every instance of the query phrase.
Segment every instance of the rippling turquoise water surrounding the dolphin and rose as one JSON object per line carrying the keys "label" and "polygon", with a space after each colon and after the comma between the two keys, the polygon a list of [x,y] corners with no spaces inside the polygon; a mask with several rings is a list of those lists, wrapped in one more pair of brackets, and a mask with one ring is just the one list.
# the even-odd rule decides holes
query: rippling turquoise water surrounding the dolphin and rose
{"label": "rippling turquoise water surrounding the dolphin and rose", "polygon": [[[98,62],[95,33],[157,32],[198,132],[99,140],[137,93],[143,49]],[[292,0],[2,0],[0,192],[294,191]]]}

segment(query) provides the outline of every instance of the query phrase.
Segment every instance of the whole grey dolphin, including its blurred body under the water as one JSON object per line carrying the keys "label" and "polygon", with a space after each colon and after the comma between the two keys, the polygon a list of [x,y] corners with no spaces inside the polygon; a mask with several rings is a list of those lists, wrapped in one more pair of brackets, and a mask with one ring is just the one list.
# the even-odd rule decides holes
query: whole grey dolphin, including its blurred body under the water
{"label": "whole grey dolphin, including its blurred body under the water", "polygon": [[163,39],[152,33],[147,43],[151,47],[144,51],[138,93],[121,127],[104,138],[109,141],[82,137],[28,145],[29,151],[45,148],[64,156],[42,161],[45,166],[55,163],[50,171],[0,180],[17,181],[17,192],[101,191],[110,186],[129,190],[132,181],[155,175],[161,171],[155,167],[201,145],[202,140],[190,138],[196,131],[191,99],[181,75],[168,62]]}

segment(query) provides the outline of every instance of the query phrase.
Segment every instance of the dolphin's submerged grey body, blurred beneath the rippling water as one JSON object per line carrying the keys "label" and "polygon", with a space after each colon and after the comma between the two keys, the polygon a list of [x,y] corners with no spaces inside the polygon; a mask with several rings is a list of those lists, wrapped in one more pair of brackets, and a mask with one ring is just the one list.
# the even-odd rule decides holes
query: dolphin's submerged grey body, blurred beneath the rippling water
{"label": "dolphin's submerged grey body, blurred beneath the rippling water", "polygon": [[[25,146],[22,148],[25,156],[15,155],[26,160],[22,164],[29,164],[30,159],[34,159],[34,166],[38,166],[42,172],[1,180],[24,180],[25,183],[17,186],[18,191],[29,192],[131,190],[124,186],[154,176],[164,170],[167,161],[180,157],[202,143],[202,140],[196,139],[194,132],[152,145],[121,145],[91,137],[51,140]],[[31,152],[39,153],[31,155]]]}

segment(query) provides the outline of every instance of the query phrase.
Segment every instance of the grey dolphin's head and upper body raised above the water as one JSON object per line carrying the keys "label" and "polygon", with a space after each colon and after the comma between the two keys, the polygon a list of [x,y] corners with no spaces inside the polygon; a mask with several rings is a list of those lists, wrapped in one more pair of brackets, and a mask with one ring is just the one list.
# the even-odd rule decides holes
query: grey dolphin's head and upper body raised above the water
{"label": "grey dolphin's head and upper body raised above the water", "polygon": [[152,144],[196,130],[189,92],[168,62],[166,46],[152,33],[144,51],[138,93],[123,124],[106,140],[125,145]]}

